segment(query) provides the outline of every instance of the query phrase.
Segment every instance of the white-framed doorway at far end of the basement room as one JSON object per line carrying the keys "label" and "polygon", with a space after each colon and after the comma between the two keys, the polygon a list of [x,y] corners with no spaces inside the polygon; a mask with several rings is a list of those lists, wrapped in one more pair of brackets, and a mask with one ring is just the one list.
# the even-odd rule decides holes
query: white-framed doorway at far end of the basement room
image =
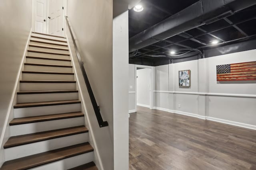
{"label": "white-framed doorway at far end of the basement room", "polygon": [[153,73],[151,66],[135,66],[135,110],[137,110],[137,106],[153,109]]}

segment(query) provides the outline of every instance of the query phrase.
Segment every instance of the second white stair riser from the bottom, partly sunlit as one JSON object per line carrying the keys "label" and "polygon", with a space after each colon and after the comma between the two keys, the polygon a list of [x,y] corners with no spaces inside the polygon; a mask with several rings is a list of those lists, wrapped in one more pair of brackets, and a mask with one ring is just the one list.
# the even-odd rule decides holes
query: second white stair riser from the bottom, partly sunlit
{"label": "second white stair riser from the bottom, partly sunlit", "polygon": [[30,143],[27,145],[7,148],[5,149],[5,160],[8,161],[17,158],[22,158],[24,156],[47,152],[49,150],[68,147],[71,145],[76,145],[84,142],[88,142],[88,133],[70,135],[56,139],[50,139],[47,141],[40,141],[36,143]]}

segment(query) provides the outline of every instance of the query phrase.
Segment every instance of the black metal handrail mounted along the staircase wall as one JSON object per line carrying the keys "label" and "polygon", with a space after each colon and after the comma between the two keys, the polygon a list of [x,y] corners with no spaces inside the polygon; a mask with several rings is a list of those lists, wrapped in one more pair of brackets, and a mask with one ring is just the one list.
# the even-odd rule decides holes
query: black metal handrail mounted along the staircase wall
{"label": "black metal handrail mounted along the staircase wall", "polygon": [[76,51],[76,56],[78,58],[78,61],[79,61],[79,65],[80,65],[80,68],[82,70],[82,74],[84,76],[84,82],[86,84],[86,87],[87,87],[87,90],[88,90],[88,93],[89,93],[89,96],[90,96],[90,99],[91,99],[91,102],[92,102],[92,106],[93,106],[93,109],[94,109],[94,112],[95,112],[95,115],[96,115],[96,118],[98,120],[98,123],[99,123],[99,126],[100,127],[106,127],[108,126],[108,122],[107,121],[103,121],[102,119],[102,116],[100,114],[100,107],[98,106],[96,100],[95,100],[95,97],[94,97],[94,94],[92,92],[92,88],[91,88],[91,85],[90,85],[90,82],[88,80],[88,77],[87,77],[87,74],[86,74],[86,71],[84,69],[84,63],[80,57],[80,53],[78,52],[78,47],[76,45],[76,41],[74,39],[74,35],[72,33],[72,30],[71,30],[71,27],[70,27],[70,24],[68,22],[68,17],[65,16],[65,19],[66,19],[66,23],[68,25],[68,29],[70,31],[70,35],[72,37],[72,40],[73,40],[73,43],[74,43],[74,47],[75,47],[75,51]]}

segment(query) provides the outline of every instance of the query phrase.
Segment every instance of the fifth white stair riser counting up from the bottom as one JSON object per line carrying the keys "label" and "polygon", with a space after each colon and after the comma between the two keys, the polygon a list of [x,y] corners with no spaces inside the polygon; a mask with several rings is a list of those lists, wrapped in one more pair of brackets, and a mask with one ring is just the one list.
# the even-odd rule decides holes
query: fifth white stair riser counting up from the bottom
{"label": "fifth white stair riser counting up from the bottom", "polygon": [[17,103],[78,100],[78,93],[18,94]]}

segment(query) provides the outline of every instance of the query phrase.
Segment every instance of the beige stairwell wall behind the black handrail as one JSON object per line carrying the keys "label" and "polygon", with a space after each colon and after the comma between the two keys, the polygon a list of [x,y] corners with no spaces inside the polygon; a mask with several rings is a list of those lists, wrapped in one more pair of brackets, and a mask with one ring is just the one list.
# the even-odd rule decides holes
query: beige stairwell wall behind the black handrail
{"label": "beige stairwell wall behind the black handrail", "polygon": [[[99,127],[90,98],[84,90],[82,94],[86,100],[88,119],[91,121],[102,165],[105,170],[113,170],[113,2],[68,0],[67,6],[68,20],[76,36],[94,96],[100,106],[102,118],[108,121],[109,126]],[[83,80],[80,83],[84,83]]]}

